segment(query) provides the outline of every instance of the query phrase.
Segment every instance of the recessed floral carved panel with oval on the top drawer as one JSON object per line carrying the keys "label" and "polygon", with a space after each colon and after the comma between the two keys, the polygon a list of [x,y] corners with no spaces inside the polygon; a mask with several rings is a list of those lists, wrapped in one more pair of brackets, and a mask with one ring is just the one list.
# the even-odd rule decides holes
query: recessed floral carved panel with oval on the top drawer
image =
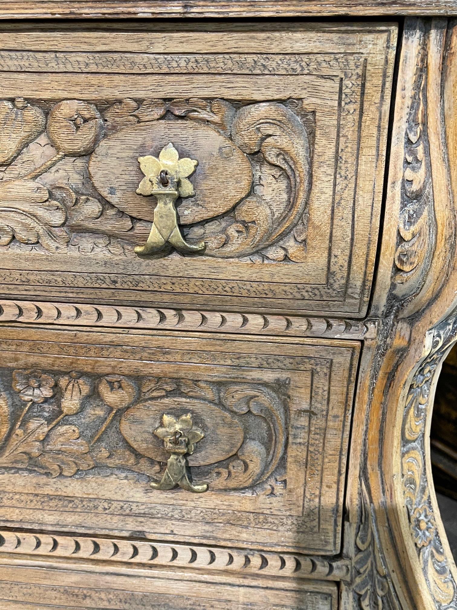
{"label": "recessed floral carved panel with oval on the top drawer", "polygon": [[[311,187],[304,112],[295,100],[127,98],[104,109],[2,101],[0,248],[135,256],[156,204],[136,193],[138,157],[173,142],[199,160],[194,195],[177,201],[186,239],[206,242],[210,257],[302,262]],[[170,255],[182,256],[171,247],[160,256]]]}

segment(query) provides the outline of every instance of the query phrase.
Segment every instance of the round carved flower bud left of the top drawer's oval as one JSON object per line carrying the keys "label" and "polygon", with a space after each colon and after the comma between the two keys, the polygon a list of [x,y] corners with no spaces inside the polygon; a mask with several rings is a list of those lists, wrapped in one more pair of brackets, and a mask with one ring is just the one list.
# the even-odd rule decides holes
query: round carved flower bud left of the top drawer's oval
{"label": "round carved flower bud left of the top drawer's oval", "polygon": [[49,112],[48,137],[58,152],[83,156],[93,151],[103,131],[95,106],[78,99],[65,99]]}

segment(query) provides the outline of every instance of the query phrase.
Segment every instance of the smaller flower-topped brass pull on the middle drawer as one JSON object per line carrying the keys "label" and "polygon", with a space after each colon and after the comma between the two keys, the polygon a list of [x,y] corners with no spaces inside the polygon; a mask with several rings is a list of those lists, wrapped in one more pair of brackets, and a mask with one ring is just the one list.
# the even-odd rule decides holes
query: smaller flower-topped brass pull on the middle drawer
{"label": "smaller flower-topped brass pull on the middle drawer", "polygon": [[193,426],[190,413],[182,415],[179,420],[164,414],[162,424],[154,430],[154,434],[163,440],[163,447],[168,451],[170,457],[160,483],[151,483],[151,487],[166,490],[179,486],[188,492],[205,492],[208,489],[206,483],[194,485],[189,480],[185,458],[186,454],[194,453],[196,443],[205,436],[204,432]]}

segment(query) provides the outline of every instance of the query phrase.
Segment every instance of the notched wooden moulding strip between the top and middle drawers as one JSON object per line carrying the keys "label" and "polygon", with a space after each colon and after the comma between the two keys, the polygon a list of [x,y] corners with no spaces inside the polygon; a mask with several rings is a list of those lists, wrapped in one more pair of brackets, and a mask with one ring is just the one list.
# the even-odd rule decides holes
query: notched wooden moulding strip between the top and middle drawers
{"label": "notched wooden moulding strip between the top and middle drawers", "polygon": [[376,323],[372,320],[0,300],[0,322],[29,324],[38,321],[41,324],[70,324],[103,328],[236,332],[269,336],[322,337],[324,339],[368,339],[376,334]]}

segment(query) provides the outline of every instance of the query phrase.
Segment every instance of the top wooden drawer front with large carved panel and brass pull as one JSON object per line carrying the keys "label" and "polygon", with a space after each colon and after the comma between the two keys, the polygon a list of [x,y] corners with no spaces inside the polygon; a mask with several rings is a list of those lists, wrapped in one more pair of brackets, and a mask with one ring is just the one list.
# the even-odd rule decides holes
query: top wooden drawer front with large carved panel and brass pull
{"label": "top wooden drawer front with large carved panel and brass pull", "polygon": [[126,27],[1,27],[2,292],[362,317],[397,26]]}

